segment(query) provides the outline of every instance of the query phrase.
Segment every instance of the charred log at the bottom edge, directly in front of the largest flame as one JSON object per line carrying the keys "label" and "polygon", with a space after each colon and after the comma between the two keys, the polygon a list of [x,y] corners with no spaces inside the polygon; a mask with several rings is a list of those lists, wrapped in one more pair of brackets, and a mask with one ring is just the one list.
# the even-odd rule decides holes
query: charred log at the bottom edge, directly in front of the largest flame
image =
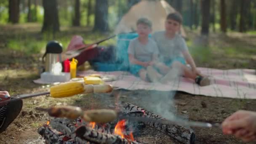
{"label": "charred log at the bottom edge, directly in front of the largest flame", "polygon": [[79,128],[77,128],[75,133],[76,136],[80,137],[81,139],[91,141],[97,144],[141,144],[136,141],[122,139],[121,136],[101,133],[86,126],[80,126]]}

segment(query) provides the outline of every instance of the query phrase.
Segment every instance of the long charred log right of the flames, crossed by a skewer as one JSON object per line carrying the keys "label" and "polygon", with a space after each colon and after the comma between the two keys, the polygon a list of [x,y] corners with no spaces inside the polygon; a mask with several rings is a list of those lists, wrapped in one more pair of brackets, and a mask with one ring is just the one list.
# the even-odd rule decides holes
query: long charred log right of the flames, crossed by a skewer
{"label": "long charred log right of the flames, crossed by a skewer", "polygon": [[123,104],[123,108],[125,113],[131,116],[136,117],[149,117],[155,118],[159,120],[159,122],[144,122],[150,127],[156,128],[159,131],[166,133],[168,136],[173,137],[174,139],[181,141],[184,144],[194,144],[195,143],[195,133],[191,128],[186,128],[180,125],[171,125],[171,124],[162,124],[161,120],[165,120],[165,118],[155,115],[152,112],[149,112],[141,107],[137,107],[135,105],[125,103]]}

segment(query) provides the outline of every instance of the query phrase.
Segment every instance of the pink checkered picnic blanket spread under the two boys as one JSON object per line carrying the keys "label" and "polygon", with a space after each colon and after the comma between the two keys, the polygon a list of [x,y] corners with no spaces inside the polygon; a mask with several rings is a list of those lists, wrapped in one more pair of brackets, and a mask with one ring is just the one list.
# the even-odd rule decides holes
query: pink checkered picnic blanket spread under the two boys
{"label": "pink checkered picnic blanket spread under the two boys", "polygon": [[[214,96],[235,99],[256,99],[256,72],[254,69],[210,69],[198,68],[203,74],[211,76],[211,85],[199,86],[193,80],[179,77],[167,84],[148,83],[129,72],[96,72],[93,70],[78,72],[86,76],[94,73],[115,75],[117,80],[107,82],[118,88],[127,90],[183,91],[195,95]],[[35,82],[35,81],[34,81]]]}

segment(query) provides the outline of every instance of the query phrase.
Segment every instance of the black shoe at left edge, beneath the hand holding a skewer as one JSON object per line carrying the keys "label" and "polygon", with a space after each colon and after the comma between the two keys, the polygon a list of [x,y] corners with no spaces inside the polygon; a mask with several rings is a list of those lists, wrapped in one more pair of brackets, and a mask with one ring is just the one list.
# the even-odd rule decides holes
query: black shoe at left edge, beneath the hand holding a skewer
{"label": "black shoe at left edge, beneath the hand holding a skewer", "polygon": [[21,112],[23,106],[22,100],[11,101],[8,104],[0,107],[0,133],[16,119]]}

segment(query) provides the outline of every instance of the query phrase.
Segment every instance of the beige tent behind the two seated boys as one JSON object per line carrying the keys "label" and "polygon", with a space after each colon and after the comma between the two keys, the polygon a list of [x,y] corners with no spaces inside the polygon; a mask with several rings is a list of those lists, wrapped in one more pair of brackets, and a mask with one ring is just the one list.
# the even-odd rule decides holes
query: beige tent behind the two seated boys
{"label": "beige tent behind the two seated boys", "polygon": [[[175,9],[165,0],[141,0],[140,3],[133,5],[128,13],[123,16],[121,21],[117,24],[115,34],[135,31],[136,21],[141,17],[152,21],[153,32],[164,30],[166,16],[174,12]],[[181,35],[186,37],[182,27]]]}

